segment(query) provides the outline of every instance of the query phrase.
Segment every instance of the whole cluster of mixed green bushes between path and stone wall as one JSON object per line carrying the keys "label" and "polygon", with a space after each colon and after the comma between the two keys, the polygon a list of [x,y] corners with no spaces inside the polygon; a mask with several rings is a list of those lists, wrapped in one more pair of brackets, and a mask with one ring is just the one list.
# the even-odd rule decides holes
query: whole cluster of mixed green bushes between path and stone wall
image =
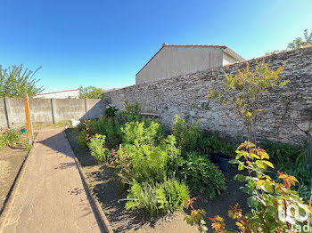
{"label": "whole cluster of mixed green bushes between path and stone wall", "polygon": [[[126,208],[142,209],[152,216],[171,213],[185,205],[189,190],[213,198],[226,189],[223,173],[201,156],[199,151],[185,149],[183,139],[165,135],[162,125],[143,119],[137,103],[126,110],[109,112],[111,117],[99,117],[81,125],[78,141],[87,145],[99,163],[114,167],[120,180],[129,186]],[[136,107],[135,107],[136,106]],[[106,114],[110,116],[110,114]],[[119,117],[123,116],[123,117]],[[124,123],[126,116],[127,123]]]}

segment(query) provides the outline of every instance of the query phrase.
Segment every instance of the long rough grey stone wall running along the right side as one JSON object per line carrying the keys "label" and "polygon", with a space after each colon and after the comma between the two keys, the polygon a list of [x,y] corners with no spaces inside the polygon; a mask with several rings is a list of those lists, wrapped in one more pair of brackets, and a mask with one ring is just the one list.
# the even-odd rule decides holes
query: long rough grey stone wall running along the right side
{"label": "long rough grey stone wall running along the right side", "polygon": [[[257,138],[291,144],[306,140],[305,132],[312,122],[312,46],[152,84],[128,86],[106,92],[106,96],[119,108],[124,107],[124,100],[137,100],[144,112],[160,114],[160,121],[167,127],[171,127],[178,114],[191,122],[201,119],[205,130],[242,141],[247,133],[241,118],[233,107],[207,99],[209,84],[218,89],[216,80],[224,78],[225,74],[234,75],[237,68],[245,68],[247,62],[252,69],[260,60],[266,60],[270,68],[283,65],[281,76],[291,82],[275,92],[268,92],[262,100],[265,108],[259,117]],[[280,98],[282,93],[284,97]]]}

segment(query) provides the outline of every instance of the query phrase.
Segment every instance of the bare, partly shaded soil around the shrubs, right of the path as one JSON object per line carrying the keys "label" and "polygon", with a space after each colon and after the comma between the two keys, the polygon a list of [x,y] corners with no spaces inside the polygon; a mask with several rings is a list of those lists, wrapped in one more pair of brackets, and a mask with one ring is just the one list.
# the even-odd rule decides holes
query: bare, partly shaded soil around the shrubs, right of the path
{"label": "bare, partly shaded soil around the shrubs, right of the path", "polygon": [[[119,177],[113,169],[97,165],[94,158],[81,148],[76,140],[78,129],[69,128],[65,132],[114,232],[198,232],[195,226],[186,224],[184,221],[186,213],[184,212],[149,220],[144,213],[126,211],[125,202],[120,199],[127,197],[127,189],[120,183]],[[196,197],[194,207],[206,211],[207,218],[205,220],[208,227],[211,224],[208,217],[220,215],[225,218],[226,229],[234,230],[236,229],[235,222],[227,216],[230,206],[239,203],[242,206],[242,213],[249,211],[246,203],[248,195],[240,189],[242,182],[234,181],[235,174],[237,174],[236,167],[229,166],[228,173],[225,173],[227,190],[221,196],[213,200],[201,196]]]}

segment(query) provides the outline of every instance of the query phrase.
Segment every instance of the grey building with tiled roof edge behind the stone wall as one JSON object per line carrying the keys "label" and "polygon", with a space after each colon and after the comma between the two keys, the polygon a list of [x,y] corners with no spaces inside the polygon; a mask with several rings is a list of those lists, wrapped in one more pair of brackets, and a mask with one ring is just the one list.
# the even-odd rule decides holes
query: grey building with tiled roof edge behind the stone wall
{"label": "grey building with tiled roof edge behind the stone wall", "polygon": [[135,75],[135,84],[151,83],[242,60],[227,46],[162,44],[159,52]]}

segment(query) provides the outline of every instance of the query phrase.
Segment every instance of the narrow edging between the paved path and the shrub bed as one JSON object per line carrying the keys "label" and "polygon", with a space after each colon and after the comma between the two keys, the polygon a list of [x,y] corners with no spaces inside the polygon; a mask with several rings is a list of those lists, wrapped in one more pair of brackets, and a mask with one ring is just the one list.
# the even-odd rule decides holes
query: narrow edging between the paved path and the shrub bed
{"label": "narrow edging between the paved path and the shrub bed", "polygon": [[[67,139],[67,135],[64,131],[62,131],[62,133],[64,134],[64,137],[65,139],[68,141],[68,143],[70,144],[70,141]],[[71,148],[71,144],[70,144],[70,149]],[[74,152],[74,151],[73,151]],[[80,165],[80,162],[78,161],[78,158],[76,157],[75,153],[74,154],[74,160],[75,160],[75,163],[78,167],[78,172],[80,174],[80,178],[81,178],[81,181],[84,185],[84,188],[86,190],[86,195],[88,197],[90,197],[91,201],[92,201],[92,204],[94,205],[94,210],[97,214],[97,217],[99,218],[99,220],[101,221],[102,225],[103,225],[103,228],[105,229],[105,232],[106,233],[113,233],[114,231],[111,229],[111,224],[110,224],[110,221],[108,221],[105,213],[103,212],[103,209],[102,209],[102,206],[101,204],[99,203],[99,201],[97,200],[96,197],[94,197],[94,192],[92,191],[92,189],[90,189],[90,185],[89,185],[89,182],[86,180],[86,175],[85,173],[82,171],[81,169],[81,165]]]}

